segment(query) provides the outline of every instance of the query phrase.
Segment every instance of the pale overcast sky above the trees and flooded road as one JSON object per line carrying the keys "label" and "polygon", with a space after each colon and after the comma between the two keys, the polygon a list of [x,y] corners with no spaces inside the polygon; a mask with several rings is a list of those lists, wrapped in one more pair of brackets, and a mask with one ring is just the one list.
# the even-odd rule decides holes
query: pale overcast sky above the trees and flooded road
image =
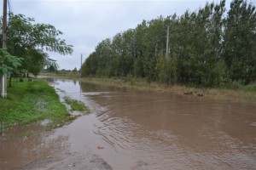
{"label": "pale overcast sky above the trees and flooded road", "polygon": [[[207,0],[9,0],[15,14],[25,14],[37,23],[50,24],[62,31],[61,38],[73,45],[73,54],[50,54],[60,69],[80,69],[83,60],[92,53],[103,39],[120,31],[135,28],[143,20],[152,20],[186,9],[195,11],[204,7]],[[212,0],[209,1],[210,3]],[[214,2],[219,2],[215,0]],[[227,0],[230,6],[230,0]],[[255,2],[255,0],[253,0]],[[2,8],[1,8],[2,9]],[[3,9],[1,10],[3,14]]]}

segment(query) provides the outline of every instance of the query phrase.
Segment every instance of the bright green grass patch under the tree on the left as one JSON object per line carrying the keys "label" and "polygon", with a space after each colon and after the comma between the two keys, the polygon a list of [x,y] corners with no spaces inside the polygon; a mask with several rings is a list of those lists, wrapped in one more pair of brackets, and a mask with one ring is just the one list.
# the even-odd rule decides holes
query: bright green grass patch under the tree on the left
{"label": "bright green grass patch under the tree on the left", "polygon": [[17,82],[8,88],[8,98],[0,98],[0,121],[9,128],[49,119],[52,124],[63,124],[70,114],[61,104],[55,89],[44,80]]}

